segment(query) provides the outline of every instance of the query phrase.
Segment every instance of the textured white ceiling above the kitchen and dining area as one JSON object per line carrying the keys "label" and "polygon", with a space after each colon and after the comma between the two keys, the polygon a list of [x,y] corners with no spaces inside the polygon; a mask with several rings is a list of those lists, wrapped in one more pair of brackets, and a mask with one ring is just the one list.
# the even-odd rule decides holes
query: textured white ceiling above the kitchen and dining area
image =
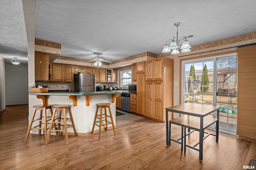
{"label": "textured white ceiling above the kitchen and dining area", "polygon": [[[194,34],[198,45],[256,31],[255,0],[37,0],[36,39],[61,43],[62,56],[114,61]],[[0,0],[0,55],[26,62],[21,0]]]}

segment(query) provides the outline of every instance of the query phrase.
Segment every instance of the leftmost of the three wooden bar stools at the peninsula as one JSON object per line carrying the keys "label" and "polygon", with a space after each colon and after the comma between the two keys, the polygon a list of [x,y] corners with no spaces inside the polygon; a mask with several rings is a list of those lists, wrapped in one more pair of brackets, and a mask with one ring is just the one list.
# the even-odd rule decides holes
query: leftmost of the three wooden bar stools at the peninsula
{"label": "leftmost of the three wooden bar stools at the peninsula", "polygon": [[[28,125],[28,131],[24,140],[24,143],[27,143],[28,140],[28,135],[30,133],[31,129],[39,129],[38,130],[38,135],[41,135],[41,129],[44,129],[44,139],[46,140],[47,137],[47,129],[49,129],[49,127],[47,127],[47,125],[50,124],[50,120],[52,119],[52,116],[46,116],[46,110],[50,109],[51,115],[52,113],[52,105],[48,104],[48,105],[35,105],[34,107],[34,111],[30,120],[30,123]],[[35,115],[36,115],[36,111],[40,110],[40,117],[38,119],[34,119]],[[44,115],[42,115],[42,112],[44,111]],[[39,125],[36,125],[34,127],[32,127],[33,122],[39,122]],[[44,122],[43,125],[44,127],[42,127],[42,121]],[[49,121],[49,123],[47,123]],[[57,134],[57,133],[56,133]]]}

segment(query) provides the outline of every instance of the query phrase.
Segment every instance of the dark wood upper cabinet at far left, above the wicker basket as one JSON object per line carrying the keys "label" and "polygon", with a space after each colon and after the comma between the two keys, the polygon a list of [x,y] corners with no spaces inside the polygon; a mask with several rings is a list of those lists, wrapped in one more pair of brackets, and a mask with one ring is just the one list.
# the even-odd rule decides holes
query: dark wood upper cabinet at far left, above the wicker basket
{"label": "dark wood upper cabinet at far left, above the wicker basket", "polygon": [[35,52],[35,80],[48,80],[49,55]]}

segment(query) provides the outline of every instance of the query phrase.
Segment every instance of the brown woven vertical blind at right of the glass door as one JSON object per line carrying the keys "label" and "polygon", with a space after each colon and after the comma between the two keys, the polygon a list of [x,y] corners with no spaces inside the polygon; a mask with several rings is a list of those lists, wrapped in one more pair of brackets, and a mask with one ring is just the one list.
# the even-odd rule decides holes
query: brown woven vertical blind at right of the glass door
{"label": "brown woven vertical blind at right of the glass door", "polygon": [[256,140],[256,45],[238,48],[237,131]]}

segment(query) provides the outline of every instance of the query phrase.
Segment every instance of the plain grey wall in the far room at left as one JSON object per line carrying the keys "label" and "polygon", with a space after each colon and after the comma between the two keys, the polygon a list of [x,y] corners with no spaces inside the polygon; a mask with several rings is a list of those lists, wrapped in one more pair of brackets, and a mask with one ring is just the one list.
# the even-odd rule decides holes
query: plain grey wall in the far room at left
{"label": "plain grey wall in the far room at left", "polygon": [[5,63],[5,104],[28,104],[28,64]]}

